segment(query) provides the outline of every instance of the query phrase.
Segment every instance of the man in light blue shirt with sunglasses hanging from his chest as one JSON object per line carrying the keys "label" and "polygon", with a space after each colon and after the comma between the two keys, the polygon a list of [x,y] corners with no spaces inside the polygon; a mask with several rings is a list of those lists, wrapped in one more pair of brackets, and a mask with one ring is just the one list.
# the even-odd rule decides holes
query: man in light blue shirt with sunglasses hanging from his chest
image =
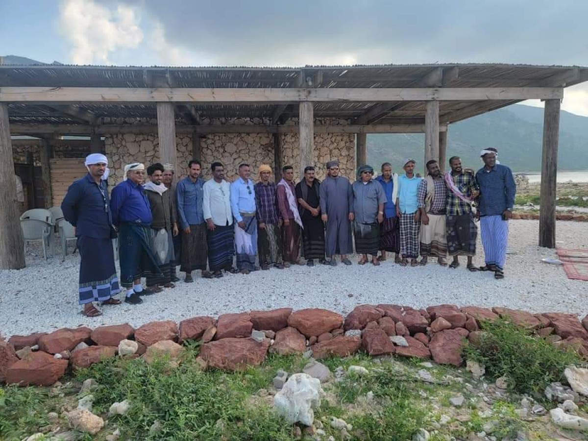
{"label": "man in light blue shirt with sunglasses hanging from his chest", "polygon": [[257,220],[255,187],[249,179],[249,164],[239,165],[239,178],[230,185],[230,208],[235,218],[237,269],[242,274],[255,271],[257,254]]}

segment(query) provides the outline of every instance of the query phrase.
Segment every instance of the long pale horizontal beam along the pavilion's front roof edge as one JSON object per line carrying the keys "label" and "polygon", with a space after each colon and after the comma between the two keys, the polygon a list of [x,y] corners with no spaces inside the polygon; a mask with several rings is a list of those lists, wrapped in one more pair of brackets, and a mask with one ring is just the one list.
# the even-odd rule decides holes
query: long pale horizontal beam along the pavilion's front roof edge
{"label": "long pale horizontal beam along the pavilion's front roof edge", "polygon": [[3,87],[0,102],[403,102],[562,99],[562,88],[131,89]]}

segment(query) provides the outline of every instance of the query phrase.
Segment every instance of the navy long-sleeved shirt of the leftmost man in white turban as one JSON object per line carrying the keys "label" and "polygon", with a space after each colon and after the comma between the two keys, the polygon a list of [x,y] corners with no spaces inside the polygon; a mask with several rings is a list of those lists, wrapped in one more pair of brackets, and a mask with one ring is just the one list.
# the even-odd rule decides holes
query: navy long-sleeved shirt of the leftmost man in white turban
{"label": "navy long-sleeved shirt of the leftmost man in white turban", "polygon": [[75,226],[76,236],[108,239],[111,235],[111,211],[106,182],[97,184],[89,174],[69,186],[61,203],[64,218]]}

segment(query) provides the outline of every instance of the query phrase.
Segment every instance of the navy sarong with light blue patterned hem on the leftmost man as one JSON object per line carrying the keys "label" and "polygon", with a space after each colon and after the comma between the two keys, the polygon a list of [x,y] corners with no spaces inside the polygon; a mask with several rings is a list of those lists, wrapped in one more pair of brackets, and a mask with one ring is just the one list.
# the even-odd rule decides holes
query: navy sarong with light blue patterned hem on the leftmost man
{"label": "navy sarong with light blue patterned hem on the leftmost man", "polygon": [[121,292],[114,266],[112,239],[78,237],[79,304],[105,302]]}

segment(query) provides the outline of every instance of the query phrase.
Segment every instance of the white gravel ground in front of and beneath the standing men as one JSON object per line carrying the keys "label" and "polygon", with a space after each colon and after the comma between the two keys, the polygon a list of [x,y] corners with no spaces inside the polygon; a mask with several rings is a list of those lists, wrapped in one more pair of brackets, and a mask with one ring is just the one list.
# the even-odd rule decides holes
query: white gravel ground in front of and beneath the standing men
{"label": "white gravel ground in front of and beneath the standing men", "polygon": [[[77,302],[78,255],[47,262],[28,256],[27,268],[0,271],[0,332],[5,336],[51,332],[64,327],[140,326],[152,320],[180,321],[196,315],[273,309],[326,308],[348,313],[363,303],[396,303],[423,308],[440,303],[459,306],[507,306],[532,312],[588,313],[588,282],[569,280],[560,266],[540,262],[556,258],[553,250],[537,246],[539,222],[513,220],[510,224],[506,278],[492,273],[470,273],[465,258],[456,270],[435,263],[402,268],[387,260],[373,265],[318,265],[314,268],[259,271],[248,276],[178,282],[176,288],[149,296],[142,305],[122,303],[102,307],[103,315],[86,318]],[[557,222],[558,245],[588,248],[588,223]],[[482,265],[482,246],[476,265]],[[434,261],[435,259],[433,259]],[[183,274],[182,274],[183,277]]]}

